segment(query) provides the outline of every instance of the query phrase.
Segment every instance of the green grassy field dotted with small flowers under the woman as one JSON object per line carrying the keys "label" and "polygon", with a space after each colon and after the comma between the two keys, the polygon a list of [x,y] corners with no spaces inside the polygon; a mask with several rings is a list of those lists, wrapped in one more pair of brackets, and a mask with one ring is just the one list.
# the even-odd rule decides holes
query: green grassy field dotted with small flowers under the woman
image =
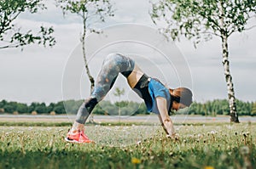
{"label": "green grassy field dotted with small flowers under the woman", "polygon": [[68,127],[0,127],[0,168],[256,168],[256,123],[86,127],[96,144],[64,142]]}

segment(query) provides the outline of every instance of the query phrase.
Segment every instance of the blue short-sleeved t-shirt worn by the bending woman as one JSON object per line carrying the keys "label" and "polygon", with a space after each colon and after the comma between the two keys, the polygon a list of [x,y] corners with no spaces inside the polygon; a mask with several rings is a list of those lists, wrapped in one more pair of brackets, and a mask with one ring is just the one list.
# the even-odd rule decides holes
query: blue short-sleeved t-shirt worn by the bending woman
{"label": "blue short-sleeved t-shirt worn by the bending woman", "polygon": [[169,110],[170,103],[171,103],[171,95],[169,93],[168,88],[166,88],[161,82],[158,82],[154,79],[150,79],[150,82],[148,82],[148,92],[152,99],[152,105],[147,105],[148,112],[153,112],[155,114],[160,114],[157,104],[156,104],[156,98],[162,97],[166,99],[166,108]]}

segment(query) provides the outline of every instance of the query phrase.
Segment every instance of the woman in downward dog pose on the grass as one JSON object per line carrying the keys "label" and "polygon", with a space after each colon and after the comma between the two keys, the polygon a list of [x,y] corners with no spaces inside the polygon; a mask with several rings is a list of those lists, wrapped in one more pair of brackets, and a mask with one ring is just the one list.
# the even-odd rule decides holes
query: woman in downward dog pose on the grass
{"label": "woman in downward dog pose on the grass", "polygon": [[148,112],[159,116],[160,123],[167,135],[176,137],[170,111],[189,107],[192,103],[192,93],[188,88],[166,88],[159,80],[143,73],[134,60],[121,55],[109,54],[103,61],[102,70],[96,79],[96,85],[90,98],[80,106],[72,129],[67,133],[68,142],[91,143],[84,134],[84,123],[97,103],[107,95],[113,87],[117,76],[121,73],[126,77],[128,84],[145,102]]}

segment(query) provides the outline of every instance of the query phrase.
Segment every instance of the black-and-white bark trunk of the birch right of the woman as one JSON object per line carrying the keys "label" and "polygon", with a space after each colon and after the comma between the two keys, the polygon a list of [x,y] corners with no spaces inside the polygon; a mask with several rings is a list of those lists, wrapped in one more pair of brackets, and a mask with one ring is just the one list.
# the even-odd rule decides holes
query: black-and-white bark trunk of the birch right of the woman
{"label": "black-and-white bark trunk of the birch right of the woman", "polygon": [[239,122],[237,111],[236,111],[236,98],[235,98],[234,86],[232,82],[232,76],[230,74],[230,61],[228,58],[229,57],[228,36],[225,32],[222,33],[221,39],[222,39],[222,54],[223,54],[222,64],[224,66],[224,75],[227,83],[228,98],[230,102],[230,121]]}

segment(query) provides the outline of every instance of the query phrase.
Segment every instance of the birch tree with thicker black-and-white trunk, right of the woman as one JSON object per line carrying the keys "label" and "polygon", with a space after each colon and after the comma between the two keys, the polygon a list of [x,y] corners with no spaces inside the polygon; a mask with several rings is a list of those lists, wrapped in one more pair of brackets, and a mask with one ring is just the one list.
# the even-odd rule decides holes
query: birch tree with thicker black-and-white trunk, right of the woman
{"label": "birch tree with thicker black-and-white trunk, right of the woman", "polygon": [[248,20],[255,17],[255,0],[160,0],[153,3],[151,18],[155,24],[164,20],[162,31],[167,37],[179,40],[184,36],[194,41],[210,40],[217,36],[222,42],[222,64],[230,104],[230,121],[239,122],[235,89],[230,73],[229,37],[246,31]]}

